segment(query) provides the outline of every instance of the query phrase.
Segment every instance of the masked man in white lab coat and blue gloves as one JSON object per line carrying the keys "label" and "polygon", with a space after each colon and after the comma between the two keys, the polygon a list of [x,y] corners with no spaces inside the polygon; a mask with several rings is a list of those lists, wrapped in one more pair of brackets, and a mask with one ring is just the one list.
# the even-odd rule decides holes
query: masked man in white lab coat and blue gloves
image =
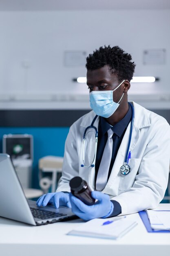
{"label": "masked man in white lab coat and blue gloves", "polygon": [[[135,71],[130,54],[105,46],[86,60],[93,110],[71,126],[57,191],[42,195],[37,205],[72,207],[84,220],[153,209],[168,184],[170,126],[163,117],[128,102]],[[94,205],[70,193],[74,176],[88,182],[97,199]]]}

